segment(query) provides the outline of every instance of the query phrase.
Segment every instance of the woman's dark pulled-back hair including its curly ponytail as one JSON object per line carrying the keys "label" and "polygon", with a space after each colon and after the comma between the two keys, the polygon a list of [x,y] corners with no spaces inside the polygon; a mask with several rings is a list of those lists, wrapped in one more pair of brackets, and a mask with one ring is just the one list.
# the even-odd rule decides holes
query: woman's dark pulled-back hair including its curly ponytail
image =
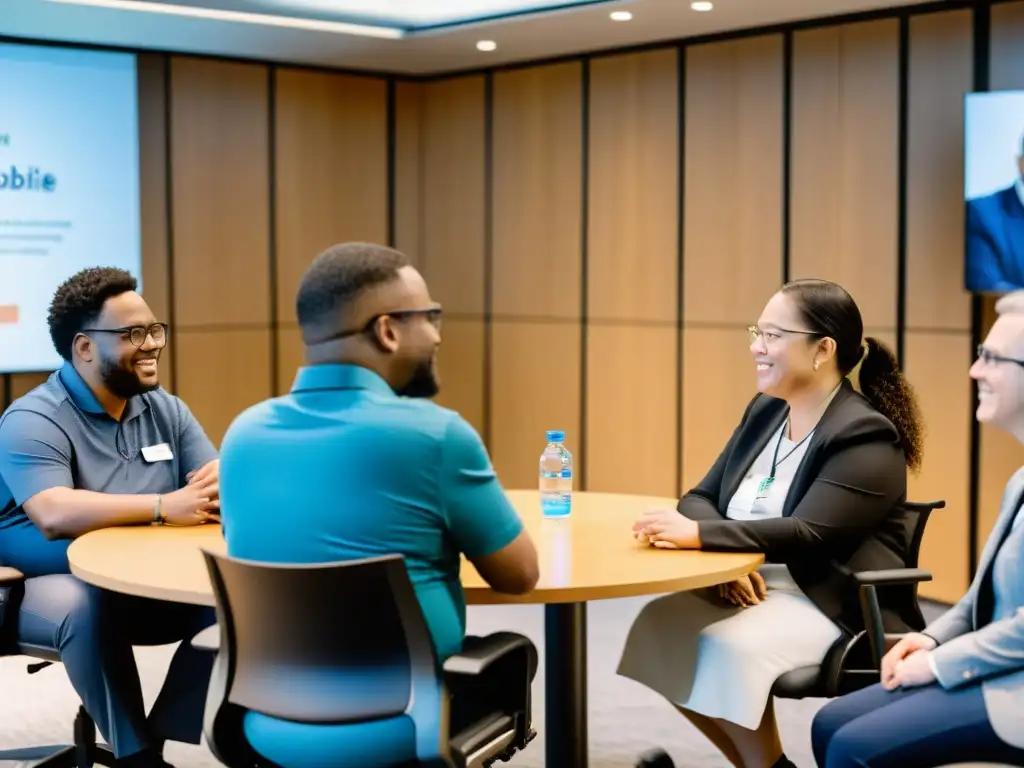
{"label": "woman's dark pulled-back hair including its curly ponytail", "polygon": [[860,391],[896,427],[906,465],[918,472],[925,430],[916,395],[892,350],[873,337],[862,339],[864,324],[853,297],[842,286],[824,280],[793,281],[782,292],[796,302],[815,336],[836,342],[841,375],[849,375],[860,364]]}

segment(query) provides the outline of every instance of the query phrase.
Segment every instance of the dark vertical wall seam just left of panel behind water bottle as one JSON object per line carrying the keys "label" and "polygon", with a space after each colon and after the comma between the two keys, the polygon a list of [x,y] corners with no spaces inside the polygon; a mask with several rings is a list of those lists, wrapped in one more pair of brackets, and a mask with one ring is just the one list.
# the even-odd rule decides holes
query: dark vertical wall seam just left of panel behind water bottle
{"label": "dark vertical wall seam just left of panel behind water bottle", "polygon": [[[483,444],[494,451],[493,394],[494,379],[494,266],[495,266],[495,78],[483,77]],[[422,177],[423,174],[421,174]],[[423,210],[423,206],[420,206]],[[420,253],[423,253],[421,249]]]}

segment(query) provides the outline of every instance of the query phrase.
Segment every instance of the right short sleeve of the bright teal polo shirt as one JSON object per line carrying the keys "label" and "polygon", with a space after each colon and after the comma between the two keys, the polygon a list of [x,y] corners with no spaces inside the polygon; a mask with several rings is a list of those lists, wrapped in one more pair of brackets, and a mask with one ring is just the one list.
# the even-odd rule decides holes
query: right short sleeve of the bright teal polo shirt
{"label": "right short sleeve of the bright teal polo shirt", "polygon": [[522,520],[498,480],[483,440],[454,414],[444,433],[441,501],[459,551],[484,557],[508,546],[522,530]]}

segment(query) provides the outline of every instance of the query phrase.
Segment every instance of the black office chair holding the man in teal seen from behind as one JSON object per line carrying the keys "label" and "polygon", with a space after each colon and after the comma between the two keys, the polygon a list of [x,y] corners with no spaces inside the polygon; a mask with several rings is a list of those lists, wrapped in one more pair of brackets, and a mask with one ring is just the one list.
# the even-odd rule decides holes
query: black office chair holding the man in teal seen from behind
{"label": "black office chair holding the man in teal seen from behind", "polygon": [[[512,633],[467,638],[439,666],[402,557],[280,565],[204,556],[218,617],[194,640],[217,652],[204,731],[229,768],[278,768],[250,743],[248,713],[318,725],[408,718],[415,737],[394,768],[489,766],[536,736],[537,648]],[[454,712],[464,712],[460,696],[478,705],[451,730],[447,691]],[[339,768],[340,752],[332,755]]]}

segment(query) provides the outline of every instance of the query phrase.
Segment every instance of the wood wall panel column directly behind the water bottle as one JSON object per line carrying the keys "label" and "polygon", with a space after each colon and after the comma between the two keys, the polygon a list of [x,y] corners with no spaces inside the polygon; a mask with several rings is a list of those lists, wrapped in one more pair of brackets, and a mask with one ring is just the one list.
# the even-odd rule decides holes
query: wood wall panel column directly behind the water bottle
{"label": "wood wall panel column directly behind the water bottle", "polygon": [[583,69],[494,76],[490,451],[513,487],[536,483],[546,430],[582,456]]}

